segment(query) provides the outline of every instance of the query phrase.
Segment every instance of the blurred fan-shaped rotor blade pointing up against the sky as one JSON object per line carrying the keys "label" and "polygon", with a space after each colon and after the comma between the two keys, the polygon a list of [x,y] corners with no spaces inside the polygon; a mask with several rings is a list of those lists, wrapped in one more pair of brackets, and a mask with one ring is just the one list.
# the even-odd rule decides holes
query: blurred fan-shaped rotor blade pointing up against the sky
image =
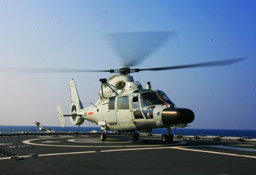
{"label": "blurred fan-shaped rotor blade pointing up against the sky", "polygon": [[105,37],[121,58],[122,66],[130,67],[156,52],[176,33],[171,31],[108,33]]}

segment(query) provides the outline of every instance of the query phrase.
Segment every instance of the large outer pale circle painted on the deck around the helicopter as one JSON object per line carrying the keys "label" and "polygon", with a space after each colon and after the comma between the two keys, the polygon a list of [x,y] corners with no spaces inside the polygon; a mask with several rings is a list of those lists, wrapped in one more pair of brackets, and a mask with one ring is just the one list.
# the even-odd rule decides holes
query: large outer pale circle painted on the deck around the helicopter
{"label": "large outer pale circle painted on the deck around the helicopter", "polygon": [[[61,137],[59,139],[64,139],[65,137]],[[70,137],[67,137],[70,138]],[[32,144],[36,146],[51,146],[51,147],[104,147],[106,145],[102,144],[101,146],[77,146],[77,145],[55,145],[55,144],[42,144],[42,143],[31,143],[35,140],[43,140],[43,139],[52,139],[52,138],[39,138],[39,139],[30,139],[30,140],[24,140],[22,143],[24,144]],[[106,146],[106,147],[159,147],[159,146],[174,146],[174,145],[180,145],[180,144],[186,144],[187,142],[183,140],[176,140],[179,143],[172,143],[172,144],[155,144],[155,145],[132,145],[132,146]],[[104,143],[104,142],[102,142]]]}

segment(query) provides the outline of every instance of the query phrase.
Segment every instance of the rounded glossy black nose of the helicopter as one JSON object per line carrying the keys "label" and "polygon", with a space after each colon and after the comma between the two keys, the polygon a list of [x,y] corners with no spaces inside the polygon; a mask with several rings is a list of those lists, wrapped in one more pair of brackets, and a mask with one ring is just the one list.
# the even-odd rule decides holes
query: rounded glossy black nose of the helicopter
{"label": "rounded glossy black nose of the helicopter", "polygon": [[190,109],[166,108],[162,112],[162,121],[164,125],[191,123],[194,119],[195,114]]}

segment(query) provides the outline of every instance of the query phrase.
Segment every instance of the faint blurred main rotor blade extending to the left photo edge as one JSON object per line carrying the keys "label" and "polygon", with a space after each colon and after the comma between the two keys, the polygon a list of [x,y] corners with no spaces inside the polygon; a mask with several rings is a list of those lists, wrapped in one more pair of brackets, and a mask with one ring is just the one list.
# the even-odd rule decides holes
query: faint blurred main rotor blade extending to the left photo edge
{"label": "faint blurred main rotor blade extending to the left photo edge", "polygon": [[35,67],[0,67],[0,70],[13,74],[65,73],[65,72],[110,72],[110,70],[51,69]]}

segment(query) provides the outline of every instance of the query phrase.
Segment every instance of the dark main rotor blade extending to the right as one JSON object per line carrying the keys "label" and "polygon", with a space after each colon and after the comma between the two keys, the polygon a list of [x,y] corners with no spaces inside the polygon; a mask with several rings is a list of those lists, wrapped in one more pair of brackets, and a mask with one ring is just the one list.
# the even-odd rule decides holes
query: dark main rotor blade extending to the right
{"label": "dark main rotor blade extending to the right", "polygon": [[196,63],[196,64],[191,64],[191,65],[180,65],[180,66],[169,66],[169,67],[155,67],[155,68],[150,68],[150,69],[139,69],[139,71],[144,71],[144,70],[158,71],[158,70],[167,70],[167,69],[183,69],[183,68],[190,68],[190,67],[227,66],[227,65],[232,65],[234,63],[243,61],[244,59],[247,59],[247,57],[245,57],[245,58],[236,58],[236,59],[228,59],[228,60],[224,60],[224,61]]}

